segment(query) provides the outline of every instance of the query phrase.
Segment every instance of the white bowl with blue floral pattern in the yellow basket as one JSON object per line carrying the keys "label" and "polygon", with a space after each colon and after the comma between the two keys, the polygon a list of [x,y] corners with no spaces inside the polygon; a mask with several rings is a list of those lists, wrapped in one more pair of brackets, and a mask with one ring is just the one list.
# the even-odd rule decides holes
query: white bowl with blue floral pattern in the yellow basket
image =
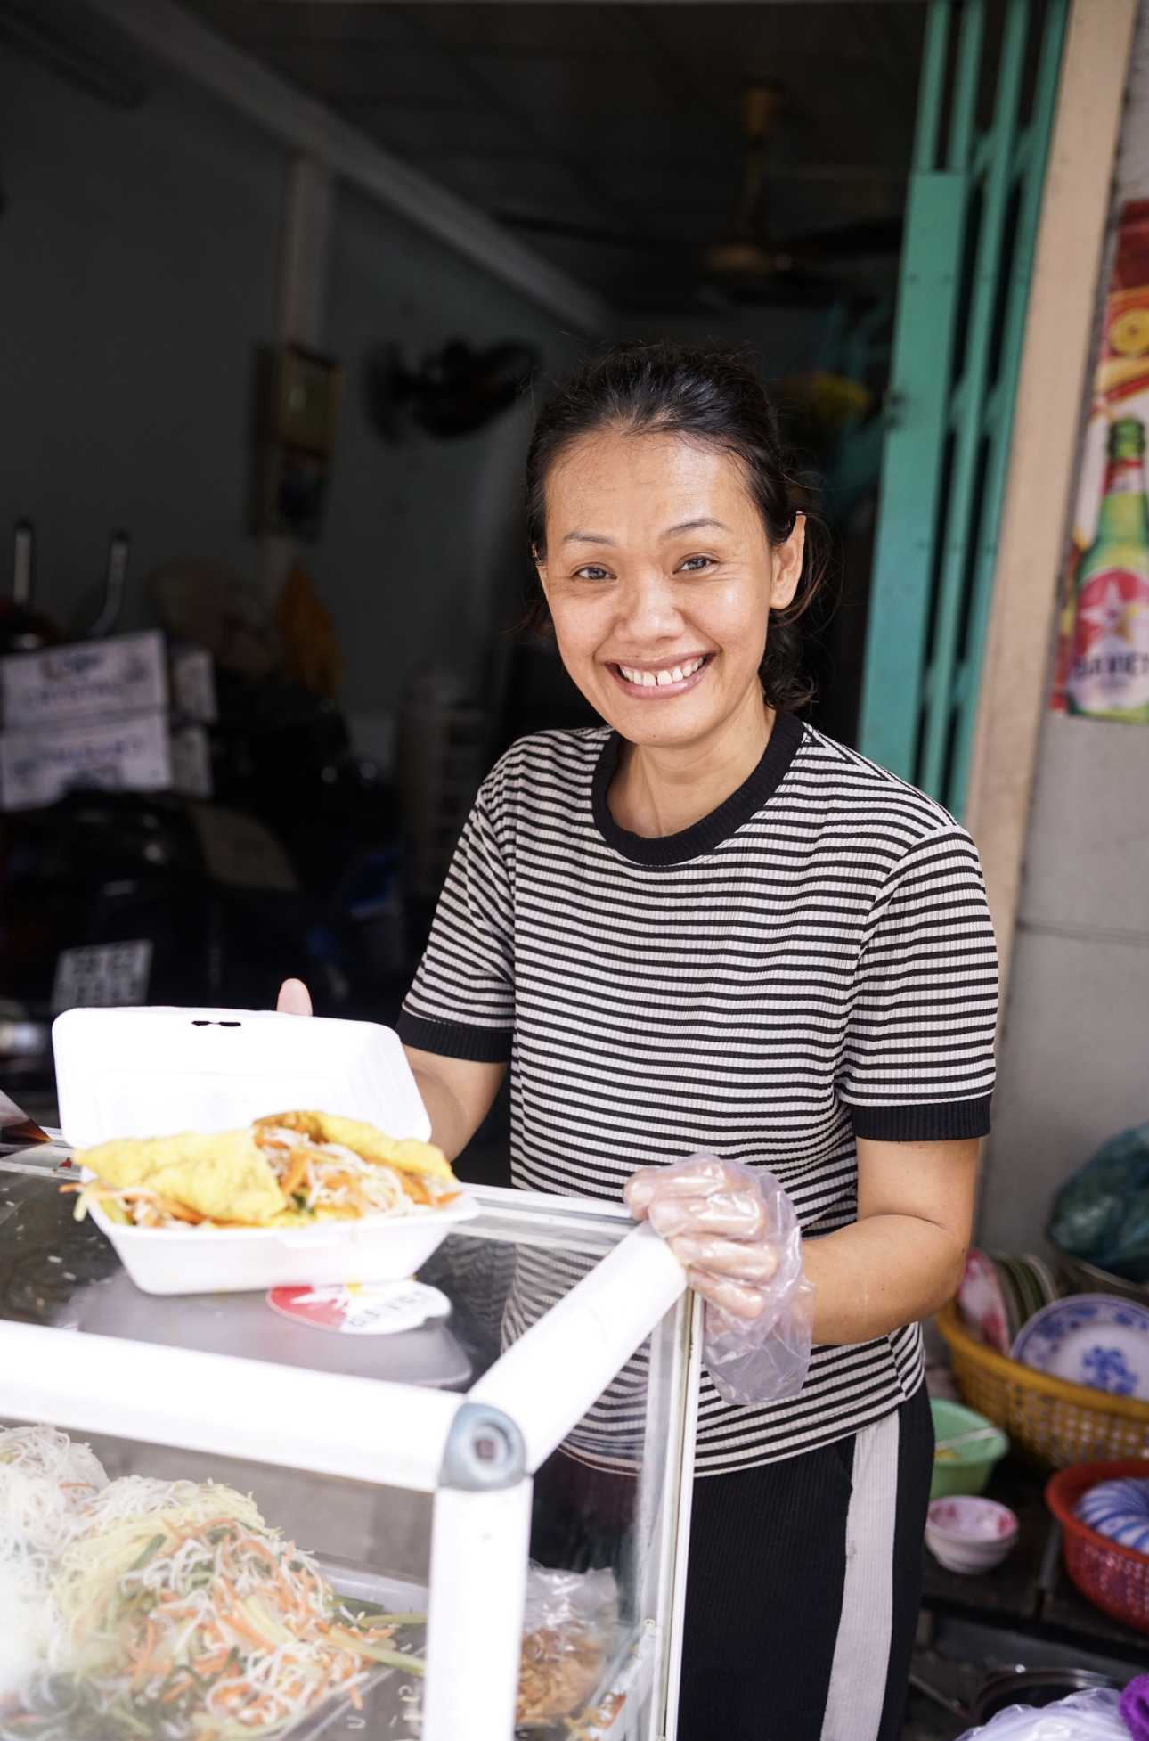
{"label": "white bowl with blue floral pattern in the yellow basket", "polygon": [[1111,1396],[1149,1398],[1149,1311],[1112,1294],[1074,1294],[1036,1313],[1013,1360]]}

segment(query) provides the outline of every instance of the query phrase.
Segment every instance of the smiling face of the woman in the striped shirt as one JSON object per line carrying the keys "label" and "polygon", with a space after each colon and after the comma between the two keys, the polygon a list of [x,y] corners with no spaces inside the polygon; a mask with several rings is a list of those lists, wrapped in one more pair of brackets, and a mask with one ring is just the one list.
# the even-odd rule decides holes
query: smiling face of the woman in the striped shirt
{"label": "smiling face of the woman in the striped shirt", "polygon": [[804,524],[773,550],[738,460],[682,435],[585,435],[547,481],[538,571],[562,663],[630,743],[698,742],[761,696],[771,606]]}

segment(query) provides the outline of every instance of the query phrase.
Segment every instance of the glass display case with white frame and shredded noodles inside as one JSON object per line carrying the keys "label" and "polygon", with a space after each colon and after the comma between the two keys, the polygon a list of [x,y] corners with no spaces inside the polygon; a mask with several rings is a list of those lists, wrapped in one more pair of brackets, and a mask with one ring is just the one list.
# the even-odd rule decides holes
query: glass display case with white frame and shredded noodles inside
{"label": "glass display case with white frame and shredded noodles inside", "polygon": [[5,1741],[672,1741],[700,1337],[648,1227],[475,1189],[378,1334],[369,1288],[139,1292],[73,1177],[0,1160],[0,1494],[31,1459],[57,1532],[0,1529]]}

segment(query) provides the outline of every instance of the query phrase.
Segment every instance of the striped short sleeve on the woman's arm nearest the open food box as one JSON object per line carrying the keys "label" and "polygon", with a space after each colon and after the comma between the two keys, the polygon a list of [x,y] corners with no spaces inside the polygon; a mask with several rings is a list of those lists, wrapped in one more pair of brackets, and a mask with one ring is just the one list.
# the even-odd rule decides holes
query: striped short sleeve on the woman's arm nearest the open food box
{"label": "striped short sleeve on the woman's arm nearest the open food box", "polygon": [[480,1064],[510,1059],[515,1025],[512,874],[493,810],[487,782],[451,860],[397,1024],[407,1046]]}

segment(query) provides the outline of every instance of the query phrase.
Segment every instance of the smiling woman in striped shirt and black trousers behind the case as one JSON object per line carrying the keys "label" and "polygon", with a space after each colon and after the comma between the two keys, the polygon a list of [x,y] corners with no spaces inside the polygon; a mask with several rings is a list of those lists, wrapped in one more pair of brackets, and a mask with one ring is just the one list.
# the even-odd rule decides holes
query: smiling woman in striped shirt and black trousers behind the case
{"label": "smiling woman in striped shirt and black trousers behind the case", "polygon": [[[778,1180],[816,1346],[754,1400],[703,1372],[679,1738],[895,1741],[931,1475],[917,1320],[961,1278],[994,1079],[977,853],[794,714],[816,562],[749,362],[632,346],[559,387],[527,536],[536,615],[609,724],[487,776],[399,1031],[447,1156],[510,1064],[515,1184],[625,1196],[709,1337],[763,1314],[782,1255],[724,1163]],[[618,1415],[569,1457],[618,1468]]]}

